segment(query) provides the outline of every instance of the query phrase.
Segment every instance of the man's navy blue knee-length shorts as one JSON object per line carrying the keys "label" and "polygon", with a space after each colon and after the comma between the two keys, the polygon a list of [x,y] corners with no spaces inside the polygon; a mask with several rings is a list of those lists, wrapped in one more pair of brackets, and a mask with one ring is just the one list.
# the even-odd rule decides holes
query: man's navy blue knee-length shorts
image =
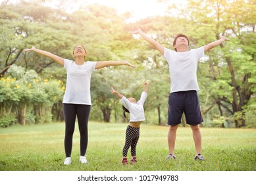
{"label": "man's navy blue knee-length shorts", "polygon": [[182,114],[186,123],[196,126],[203,122],[197,91],[178,91],[170,93],[168,101],[168,125],[181,124]]}

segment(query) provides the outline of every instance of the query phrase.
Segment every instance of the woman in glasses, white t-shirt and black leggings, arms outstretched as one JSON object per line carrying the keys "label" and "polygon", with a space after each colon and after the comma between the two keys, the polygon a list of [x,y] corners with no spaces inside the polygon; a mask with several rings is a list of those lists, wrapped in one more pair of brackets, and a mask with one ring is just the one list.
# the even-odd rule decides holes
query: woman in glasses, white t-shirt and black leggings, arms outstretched
{"label": "woman in glasses, white t-shirt and black leggings, arms outstretched", "polygon": [[63,98],[63,112],[65,120],[64,148],[66,153],[64,164],[71,164],[72,137],[76,116],[78,118],[80,131],[79,161],[82,164],[86,164],[88,162],[85,155],[88,146],[88,120],[91,110],[90,82],[92,72],[95,69],[103,68],[105,66],[128,65],[132,68],[136,67],[127,61],[122,62],[109,60],[101,62],[85,62],[87,53],[83,45],[76,45],[76,47],[74,47],[72,54],[74,60],[61,58],[47,51],[36,49],[36,47],[24,49],[24,51],[34,51],[45,57],[52,58],[55,62],[66,68],[66,91]]}

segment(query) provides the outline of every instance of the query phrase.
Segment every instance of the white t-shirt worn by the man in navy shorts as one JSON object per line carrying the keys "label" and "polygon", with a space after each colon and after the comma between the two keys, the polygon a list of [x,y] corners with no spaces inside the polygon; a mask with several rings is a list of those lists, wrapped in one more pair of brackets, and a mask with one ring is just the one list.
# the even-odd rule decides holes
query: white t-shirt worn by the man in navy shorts
{"label": "white t-shirt worn by the man in navy shorts", "polygon": [[176,52],[165,48],[164,57],[170,70],[170,93],[189,90],[199,91],[197,63],[203,55],[203,47],[186,52]]}

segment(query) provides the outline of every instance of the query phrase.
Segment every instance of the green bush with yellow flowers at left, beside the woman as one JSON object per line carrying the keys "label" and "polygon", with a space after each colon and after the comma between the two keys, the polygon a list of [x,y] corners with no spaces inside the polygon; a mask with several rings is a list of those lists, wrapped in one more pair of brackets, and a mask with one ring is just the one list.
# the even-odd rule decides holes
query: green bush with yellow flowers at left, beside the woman
{"label": "green bush with yellow flowers at left, beside the woman", "polygon": [[42,80],[34,70],[11,66],[0,80],[0,126],[51,122],[51,109],[62,101],[63,94],[62,81]]}

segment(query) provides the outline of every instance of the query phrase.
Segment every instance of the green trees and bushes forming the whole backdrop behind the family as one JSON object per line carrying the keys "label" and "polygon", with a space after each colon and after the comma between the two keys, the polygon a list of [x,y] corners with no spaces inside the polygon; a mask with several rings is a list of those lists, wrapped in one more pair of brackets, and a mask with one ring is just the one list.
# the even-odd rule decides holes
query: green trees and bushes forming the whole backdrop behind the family
{"label": "green trees and bushes forming the whole backdrop behind the family", "polygon": [[[182,7],[162,0],[166,16],[128,22],[104,5],[80,6],[66,12],[38,1],[2,1],[0,5],[0,126],[63,120],[65,70],[53,60],[23,49],[38,47],[72,59],[72,47],[85,45],[86,60],[129,60],[125,66],[97,70],[91,79],[91,120],[126,122],[111,85],[138,99],[143,81],[152,82],[145,103],[147,124],[166,124],[170,78],[165,59],[140,37],[141,28],[172,49],[176,34],[190,38],[190,48],[201,47],[221,35],[231,39],[199,61],[199,99],[207,127],[255,127],[256,34],[255,1],[190,0]],[[186,13],[184,13],[186,12]],[[184,123],[184,121],[183,121]]]}

